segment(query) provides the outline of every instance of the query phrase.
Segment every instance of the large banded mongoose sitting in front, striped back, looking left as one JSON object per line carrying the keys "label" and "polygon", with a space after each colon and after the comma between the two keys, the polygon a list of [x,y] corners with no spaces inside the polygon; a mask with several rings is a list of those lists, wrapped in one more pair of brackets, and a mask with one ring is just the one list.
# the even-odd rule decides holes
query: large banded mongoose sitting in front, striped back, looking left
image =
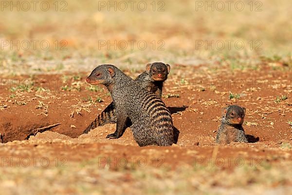
{"label": "large banded mongoose sitting in front, striped back, looking left", "polygon": [[170,146],[174,141],[169,110],[155,94],[142,88],[117,67],[97,66],[86,78],[91,85],[103,84],[110,91],[117,116],[116,131],[107,138],[122,136],[130,119],[133,137],[139,146]]}

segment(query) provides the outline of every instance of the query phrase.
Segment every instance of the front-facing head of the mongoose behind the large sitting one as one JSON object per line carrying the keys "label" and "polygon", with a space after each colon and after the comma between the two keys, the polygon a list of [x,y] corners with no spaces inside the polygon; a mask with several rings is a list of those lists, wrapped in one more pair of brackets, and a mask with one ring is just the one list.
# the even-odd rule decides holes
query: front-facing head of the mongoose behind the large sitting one
{"label": "front-facing head of the mongoose behind the large sitting one", "polygon": [[169,64],[154,62],[146,65],[146,72],[154,81],[164,81],[170,71]]}

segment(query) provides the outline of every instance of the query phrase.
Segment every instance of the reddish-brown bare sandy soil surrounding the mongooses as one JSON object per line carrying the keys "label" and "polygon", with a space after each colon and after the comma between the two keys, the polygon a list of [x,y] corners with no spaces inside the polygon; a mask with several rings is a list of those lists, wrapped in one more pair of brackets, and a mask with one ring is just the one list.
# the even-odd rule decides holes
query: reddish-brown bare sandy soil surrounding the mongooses
{"label": "reddish-brown bare sandy soil surrounding the mongooses", "polygon": [[[268,66],[247,71],[173,66],[169,79],[165,82],[164,95],[178,94],[179,97],[164,97],[163,101],[172,113],[174,126],[180,131],[177,145],[142,148],[133,140],[130,129],[119,139],[106,139],[108,134],[114,132],[114,124],[98,127],[89,134],[82,135],[84,129],[111,101],[104,87],[100,87],[103,90],[98,92],[86,89],[89,87],[85,82],[87,74],[89,73],[79,74],[80,91],[62,90],[61,87],[65,85],[62,83],[62,75],[35,76],[31,92],[10,91],[12,82],[9,79],[23,81],[28,76],[3,78],[0,85],[0,106],[3,107],[0,110],[0,134],[3,143],[8,143],[3,145],[0,155],[65,156],[73,161],[96,156],[136,157],[135,160],[145,157],[150,161],[157,161],[155,166],[159,166],[161,162],[171,167],[177,166],[178,162],[204,163],[205,157],[232,157],[232,160],[242,157],[256,160],[253,163],[292,159],[292,127],[287,123],[292,121],[291,71],[273,70]],[[127,74],[133,77],[138,75]],[[71,86],[73,75],[68,74],[68,77],[70,79],[66,84]],[[50,92],[36,92],[36,86],[50,89]],[[240,98],[230,99],[230,92],[235,96],[239,94]],[[16,96],[11,98],[13,94]],[[288,98],[281,99],[282,95]],[[80,114],[75,112],[70,117],[73,111],[71,107],[78,103],[88,104],[84,100],[88,97],[101,97],[103,101],[91,104],[88,107],[90,113],[81,110]],[[279,102],[275,101],[277,97],[280,97]],[[39,101],[48,105],[48,116],[39,115],[44,111],[36,109]],[[18,105],[21,102],[26,104]],[[243,128],[252,143],[215,144],[221,109],[229,104],[238,104],[247,109]],[[24,140],[36,133],[33,130],[55,123],[61,125]]]}

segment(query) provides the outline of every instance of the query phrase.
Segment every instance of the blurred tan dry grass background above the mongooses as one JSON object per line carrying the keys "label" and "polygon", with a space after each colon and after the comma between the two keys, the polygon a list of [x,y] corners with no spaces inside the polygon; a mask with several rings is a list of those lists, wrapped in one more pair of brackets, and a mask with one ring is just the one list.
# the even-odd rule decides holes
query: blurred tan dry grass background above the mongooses
{"label": "blurred tan dry grass background above the mongooses", "polygon": [[290,0],[4,0],[0,17],[0,74],[292,61]]}

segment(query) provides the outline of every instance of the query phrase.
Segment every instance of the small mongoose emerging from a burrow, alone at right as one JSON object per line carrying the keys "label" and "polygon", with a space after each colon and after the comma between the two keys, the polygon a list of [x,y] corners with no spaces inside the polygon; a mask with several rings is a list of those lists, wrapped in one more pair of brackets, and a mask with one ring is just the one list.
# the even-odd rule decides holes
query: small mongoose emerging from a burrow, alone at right
{"label": "small mongoose emerging from a burrow, alone at right", "polygon": [[242,128],[245,108],[231,105],[222,109],[221,125],[219,126],[216,142],[219,144],[248,142]]}

